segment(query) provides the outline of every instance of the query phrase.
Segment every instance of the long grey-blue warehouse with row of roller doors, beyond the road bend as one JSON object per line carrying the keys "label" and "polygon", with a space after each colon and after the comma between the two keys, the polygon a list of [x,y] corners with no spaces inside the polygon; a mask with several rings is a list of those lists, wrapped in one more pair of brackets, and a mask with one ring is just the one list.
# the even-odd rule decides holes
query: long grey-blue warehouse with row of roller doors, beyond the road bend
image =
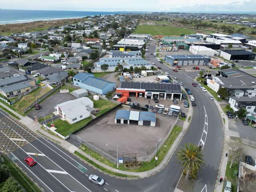
{"label": "long grey-blue warehouse with row of roller doors, beyond the road bend", "polygon": [[164,60],[171,66],[206,65],[210,58],[204,55],[166,55]]}

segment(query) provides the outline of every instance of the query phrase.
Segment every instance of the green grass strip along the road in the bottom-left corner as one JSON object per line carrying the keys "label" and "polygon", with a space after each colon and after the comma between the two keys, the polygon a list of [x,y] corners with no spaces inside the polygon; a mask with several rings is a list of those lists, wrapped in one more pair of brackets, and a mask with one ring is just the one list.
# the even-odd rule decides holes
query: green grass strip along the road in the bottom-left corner
{"label": "green grass strip along the road in the bottom-left corner", "polygon": [[26,190],[26,192],[40,192],[40,188],[24,174],[14,163],[4,158],[4,163],[10,169],[10,174]]}

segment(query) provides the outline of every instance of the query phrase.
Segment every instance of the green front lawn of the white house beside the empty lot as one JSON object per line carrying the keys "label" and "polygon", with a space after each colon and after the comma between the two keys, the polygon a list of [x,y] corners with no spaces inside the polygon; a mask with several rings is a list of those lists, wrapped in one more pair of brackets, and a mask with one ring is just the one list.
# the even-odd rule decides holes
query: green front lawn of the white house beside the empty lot
{"label": "green front lawn of the white house beside the empty lot", "polygon": [[[73,133],[74,131],[82,128],[85,126],[90,120],[92,120],[91,117],[85,118],[81,121],[78,121],[74,124],[69,124],[66,121],[62,121],[61,119],[58,119],[54,121],[54,125],[57,128],[55,131],[62,134],[63,136],[67,136],[70,133]],[[51,122],[48,123],[47,125],[50,126]]]}

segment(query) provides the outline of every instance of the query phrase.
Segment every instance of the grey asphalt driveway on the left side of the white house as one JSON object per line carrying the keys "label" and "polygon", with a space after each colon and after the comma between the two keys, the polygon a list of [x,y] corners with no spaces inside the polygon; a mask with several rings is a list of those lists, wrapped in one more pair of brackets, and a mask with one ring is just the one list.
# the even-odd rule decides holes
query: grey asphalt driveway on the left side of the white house
{"label": "grey asphalt driveway on the left side of the white house", "polygon": [[[41,109],[40,110],[32,110],[28,116],[30,118],[34,118],[34,116],[37,116],[38,118],[42,118],[44,115],[50,115],[52,114],[52,112],[54,112],[54,107],[57,104],[69,101],[69,100],[74,100],[76,99],[75,96],[73,96],[70,93],[60,93],[60,91],[56,92],[55,94],[53,94],[52,96],[50,96],[49,98],[47,98],[46,100],[44,100],[44,102],[42,102],[41,105]],[[44,114],[43,114],[44,112]]]}

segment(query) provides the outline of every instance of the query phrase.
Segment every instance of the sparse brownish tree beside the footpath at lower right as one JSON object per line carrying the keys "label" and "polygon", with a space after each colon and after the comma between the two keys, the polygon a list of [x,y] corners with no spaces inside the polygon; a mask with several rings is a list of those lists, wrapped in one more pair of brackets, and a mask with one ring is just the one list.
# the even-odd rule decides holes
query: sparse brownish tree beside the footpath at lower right
{"label": "sparse brownish tree beside the footpath at lower right", "polygon": [[232,141],[230,140],[230,142],[228,142],[228,146],[230,147],[230,150],[232,150],[232,152],[229,154],[231,162],[230,162],[230,166],[229,168],[232,168],[232,164],[233,162],[238,162],[240,156],[242,156],[243,154],[243,148],[240,142],[236,142],[236,141]]}

